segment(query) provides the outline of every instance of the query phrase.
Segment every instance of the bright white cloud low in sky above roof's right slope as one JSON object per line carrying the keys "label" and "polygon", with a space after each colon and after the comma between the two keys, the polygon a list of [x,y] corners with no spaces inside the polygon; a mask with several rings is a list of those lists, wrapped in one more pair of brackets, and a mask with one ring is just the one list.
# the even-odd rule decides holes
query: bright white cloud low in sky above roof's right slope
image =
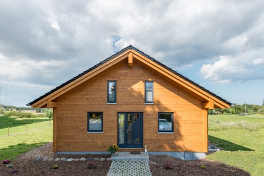
{"label": "bright white cloud low in sky above roof's right slope", "polygon": [[240,82],[254,79],[264,79],[263,67],[256,67],[264,63],[263,59],[255,59],[264,54],[262,50],[252,50],[235,56],[220,56],[220,59],[212,64],[204,64],[200,68],[200,75],[220,84]]}

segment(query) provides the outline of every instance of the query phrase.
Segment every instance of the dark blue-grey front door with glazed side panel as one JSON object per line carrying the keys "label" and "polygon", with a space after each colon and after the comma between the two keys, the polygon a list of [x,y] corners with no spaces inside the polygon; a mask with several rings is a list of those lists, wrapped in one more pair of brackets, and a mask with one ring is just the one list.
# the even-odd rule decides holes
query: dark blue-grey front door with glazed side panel
{"label": "dark blue-grey front door with glazed side panel", "polygon": [[118,146],[143,148],[143,113],[118,112]]}

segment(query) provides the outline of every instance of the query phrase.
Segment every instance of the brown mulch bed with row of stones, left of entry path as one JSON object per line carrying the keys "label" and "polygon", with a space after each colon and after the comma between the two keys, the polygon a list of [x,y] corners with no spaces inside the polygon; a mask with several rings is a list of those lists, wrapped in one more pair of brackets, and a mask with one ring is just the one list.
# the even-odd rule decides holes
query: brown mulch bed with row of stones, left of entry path
{"label": "brown mulch bed with row of stones, left of entry path", "polygon": [[[107,176],[111,161],[96,162],[95,169],[88,169],[88,162],[84,161],[41,161],[36,162],[37,157],[110,157],[110,154],[54,154],[52,143],[34,148],[28,153],[21,154],[11,163],[13,168],[6,168],[5,164],[0,164],[0,176],[9,176],[11,171],[18,170],[13,176]],[[58,169],[52,169],[57,164]]]}

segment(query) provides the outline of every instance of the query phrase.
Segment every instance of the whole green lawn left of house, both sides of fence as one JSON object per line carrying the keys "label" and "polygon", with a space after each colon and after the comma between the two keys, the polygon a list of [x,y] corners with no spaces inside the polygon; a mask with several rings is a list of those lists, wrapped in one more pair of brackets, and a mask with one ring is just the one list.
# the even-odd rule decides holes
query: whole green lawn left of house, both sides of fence
{"label": "whole green lawn left of house, both sides of fence", "polygon": [[29,125],[29,132],[11,136],[0,137],[0,160],[15,159],[16,156],[29,151],[32,148],[52,141],[52,126],[41,128],[39,124],[34,126],[33,122],[47,122],[48,118],[16,118],[0,116],[0,135],[6,134],[6,127],[11,126],[16,132],[25,132],[25,123]]}

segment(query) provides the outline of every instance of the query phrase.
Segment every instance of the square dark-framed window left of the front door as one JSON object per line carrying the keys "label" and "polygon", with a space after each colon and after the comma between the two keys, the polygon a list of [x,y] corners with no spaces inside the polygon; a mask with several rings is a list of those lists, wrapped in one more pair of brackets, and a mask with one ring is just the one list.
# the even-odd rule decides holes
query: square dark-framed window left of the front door
{"label": "square dark-framed window left of the front door", "polygon": [[103,112],[88,112],[87,132],[103,132]]}

